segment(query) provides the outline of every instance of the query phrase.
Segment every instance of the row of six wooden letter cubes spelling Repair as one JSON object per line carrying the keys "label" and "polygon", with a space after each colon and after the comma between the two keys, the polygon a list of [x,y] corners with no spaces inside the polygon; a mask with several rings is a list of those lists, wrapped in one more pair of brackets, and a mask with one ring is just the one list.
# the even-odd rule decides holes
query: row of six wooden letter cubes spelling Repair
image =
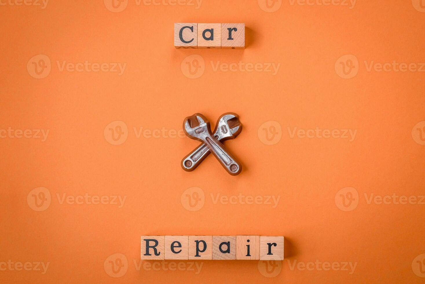
{"label": "row of six wooden letter cubes spelling Repair", "polygon": [[142,236],[141,258],[283,260],[283,236]]}

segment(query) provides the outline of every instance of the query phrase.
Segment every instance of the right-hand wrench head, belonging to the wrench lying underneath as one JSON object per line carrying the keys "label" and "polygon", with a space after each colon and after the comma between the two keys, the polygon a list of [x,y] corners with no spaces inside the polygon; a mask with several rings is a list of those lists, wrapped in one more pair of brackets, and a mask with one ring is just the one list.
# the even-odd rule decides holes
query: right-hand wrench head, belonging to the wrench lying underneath
{"label": "right-hand wrench head, belonging to the wrench lying underneath", "polygon": [[222,114],[217,121],[214,129],[215,138],[218,140],[235,139],[242,131],[242,123],[239,116],[235,113],[228,112]]}

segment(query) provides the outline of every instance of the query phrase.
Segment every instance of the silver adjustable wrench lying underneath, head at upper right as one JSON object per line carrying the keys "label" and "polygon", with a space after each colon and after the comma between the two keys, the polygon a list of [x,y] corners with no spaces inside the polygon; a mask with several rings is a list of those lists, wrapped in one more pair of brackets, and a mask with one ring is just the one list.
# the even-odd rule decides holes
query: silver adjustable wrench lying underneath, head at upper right
{"label": "silver adjustable wrench lying underneath, head at upper right", "polygon": [[[226,141],[235,139],[242,131],[242,124],[239,122],[239,117],[234,113],[222,114],[215,125],[214,136],[218,141]],[[190,154],[181,160],[181,168],[188,172],[195,170],[198,165],[210,154],[210,149],[205,143],[202,143]]]}

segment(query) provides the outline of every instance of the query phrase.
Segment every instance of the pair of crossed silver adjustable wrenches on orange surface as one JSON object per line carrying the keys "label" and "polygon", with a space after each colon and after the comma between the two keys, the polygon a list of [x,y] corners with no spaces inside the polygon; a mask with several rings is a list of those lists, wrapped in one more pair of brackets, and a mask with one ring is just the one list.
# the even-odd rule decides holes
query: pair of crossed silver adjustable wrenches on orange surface
{"label": "pair of crossed silver adjustable wrenches on orange surface", "polygon": [[241,173],[241,164],[220,142],[234,139],[241,133],[242,124],[237,114],[222,114],[215,125],[214,135],[211,133],[210,122],[202,114],[186,117],[183,130],[189,138],[203,142],[181,160],[183,170],[195,170],[211,152],[229,174],[236,176]]}

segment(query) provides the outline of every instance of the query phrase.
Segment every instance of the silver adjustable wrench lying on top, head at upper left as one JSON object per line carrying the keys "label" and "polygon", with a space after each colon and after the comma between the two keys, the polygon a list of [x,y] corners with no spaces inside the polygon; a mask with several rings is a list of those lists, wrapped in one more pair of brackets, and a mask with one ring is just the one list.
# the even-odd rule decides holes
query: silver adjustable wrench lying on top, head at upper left
{"label": "silver adjustable wrench lying on top, head at upper left", "polygon": [[[223,144],[212,135],[210,122],[202,114],[194,114],[184,119],[183,130],[192,139],[204,142],[223,168],[232,176],[241,173],[241,164],[227,151]],[[223,128],[224,131],[224,128]]]}

